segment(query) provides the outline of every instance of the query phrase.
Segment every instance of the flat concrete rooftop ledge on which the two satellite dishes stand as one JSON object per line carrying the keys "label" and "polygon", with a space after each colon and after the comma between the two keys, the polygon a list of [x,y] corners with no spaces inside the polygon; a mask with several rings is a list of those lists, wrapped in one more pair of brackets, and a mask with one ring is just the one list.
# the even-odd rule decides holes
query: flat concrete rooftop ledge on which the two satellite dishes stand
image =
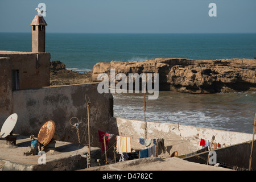
{"label": "flat concrete rooftop ledge on which the two satellite dishes stand", "polygon": [[[56,141],[53,150],[46,150],[46,164],[39,164],[42,155],[24,155],[31,146],[28,137],[18,135],[15,146],[6,144],[6,139],[0,139],[0,168],[2,171],[69,171],[84,169],[86,158],[81,155],[88,153],[88,146]],[[101,148],[91,147],[91,164],[98,166],[96,160],[101,158]],[[1,169],[0,169],[1,170]]]}

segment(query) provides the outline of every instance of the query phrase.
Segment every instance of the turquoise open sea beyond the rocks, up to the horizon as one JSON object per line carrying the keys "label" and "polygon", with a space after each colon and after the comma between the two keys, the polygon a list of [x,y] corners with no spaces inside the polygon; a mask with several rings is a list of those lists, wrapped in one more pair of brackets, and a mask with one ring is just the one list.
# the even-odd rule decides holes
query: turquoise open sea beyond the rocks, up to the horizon
{"label": "turquoise open sea beyond the rocks, up to the horizon", "polygon": [[[31,51],[31,33],[0,32],[0,50]],[[57,34],[46,33],[46,52],[67,68],[97,62],[157,57],[195,60],[256,57],[256,34]]]}

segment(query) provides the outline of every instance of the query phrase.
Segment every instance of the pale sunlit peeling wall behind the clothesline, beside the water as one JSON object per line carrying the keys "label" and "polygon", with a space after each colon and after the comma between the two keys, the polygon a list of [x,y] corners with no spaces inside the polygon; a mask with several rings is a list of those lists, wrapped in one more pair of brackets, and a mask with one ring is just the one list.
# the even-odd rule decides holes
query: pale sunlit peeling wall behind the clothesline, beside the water
{"label": "pale sunlit peeling wall behind the clothesline, beside the water", "polygon": [[[112,118],[110,119],[110,133],[131,137],[131,148],[133,150],[142,150],[146,148],[139,143],[139,138],[144,138],[144,121]],[[170,156],[174,151],[178,155],[189,154],[200,150],[200,139],[212,140],[215,135],[216,143],[229,146],[249,141],[253,138],[252,134],[238,133],[233,131],[207,129],[202,127],[193,127],[177,125],[174,123],[147,122],[147,138],[164,138],[166,154]],[[152,145],[152,143],[151,143]]]}

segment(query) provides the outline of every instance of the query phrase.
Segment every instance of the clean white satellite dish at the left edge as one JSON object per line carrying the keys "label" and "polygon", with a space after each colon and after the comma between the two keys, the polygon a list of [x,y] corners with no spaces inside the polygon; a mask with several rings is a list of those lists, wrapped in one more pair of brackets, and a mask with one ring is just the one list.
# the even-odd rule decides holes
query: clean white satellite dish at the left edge
{"label": "clean white satellite dish at the left edge", "polygon": [[0,137],[1,138],[5,138],[8,135],[10,135],[11,131],[13,131],[14,126],[16,125],[18,119],[18,114],[14,113],[11,114],[5,121],[5,123],[3,123],[2,129],[1,129],[1,133],[0,133]]}

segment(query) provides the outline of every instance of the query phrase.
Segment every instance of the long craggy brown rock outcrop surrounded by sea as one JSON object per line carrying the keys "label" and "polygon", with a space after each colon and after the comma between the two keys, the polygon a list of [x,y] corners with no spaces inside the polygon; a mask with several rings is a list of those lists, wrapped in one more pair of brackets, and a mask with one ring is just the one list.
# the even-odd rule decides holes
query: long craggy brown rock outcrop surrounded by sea
{"label": "long craggy brown rock outcrop surrounded by sea", "polygon": [[[157,58],[147,61],[111,61],[93,67],[92,81],[100,73],[159,73],[159,90],[185,93],[256,90],[255,59],[191,60]],[[110,79],[109,79],[110,80]]]}

